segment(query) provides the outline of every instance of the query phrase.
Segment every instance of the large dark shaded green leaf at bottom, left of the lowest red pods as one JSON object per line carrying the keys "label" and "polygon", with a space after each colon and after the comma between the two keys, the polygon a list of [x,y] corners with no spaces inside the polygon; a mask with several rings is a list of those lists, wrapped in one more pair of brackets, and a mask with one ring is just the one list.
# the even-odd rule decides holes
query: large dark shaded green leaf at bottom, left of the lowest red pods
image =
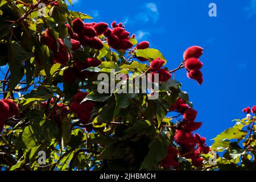
{"label": "large dark shaded green leaf at bottom, left of the lowest red pods", "polygon": [[139,170],[156,168],[158,163],[166,157],[167,146],[168,140],[162,135],[150,142],[148,145],[150,150],[146,158],[143,160]]}

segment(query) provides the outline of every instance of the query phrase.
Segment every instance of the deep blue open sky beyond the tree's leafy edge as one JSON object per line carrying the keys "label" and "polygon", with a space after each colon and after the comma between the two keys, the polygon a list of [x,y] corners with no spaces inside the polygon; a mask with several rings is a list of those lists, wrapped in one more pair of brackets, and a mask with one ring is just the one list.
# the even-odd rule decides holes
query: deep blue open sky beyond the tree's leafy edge
{"label": "deep blue open sky beyond the tree's leafy edge", "polygon": [[[217,17],[208,15],[216,3]],[[167,67],[179,65],[185,48],[204,47],[203,85],[176,73],[183,90],[203,122],[198,132],[214,138],[231,121],[242,118],[243,107],[256,105],[256,0],[248,1],[81,1],[70,7],[94,16],[94,21],[123,22],[137,39],[148,40],[167,58]]]}

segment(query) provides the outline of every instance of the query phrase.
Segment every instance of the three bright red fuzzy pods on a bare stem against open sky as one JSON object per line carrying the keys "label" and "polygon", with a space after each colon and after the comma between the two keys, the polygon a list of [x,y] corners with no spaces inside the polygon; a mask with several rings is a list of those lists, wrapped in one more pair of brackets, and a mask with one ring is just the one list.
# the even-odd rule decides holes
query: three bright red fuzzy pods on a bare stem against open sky
{"label": "three bright red fuzzy pods on a bare stem against open sky", "polygon": [[203,55],[203,48],[199,46],[189,47],[183,55],[184,67],[187,69],[187,76],[193,80],[196,80],[200,85],[203,82],[203,74],[200,69],[203,67],[203,63],[199,60],[199,57]]}

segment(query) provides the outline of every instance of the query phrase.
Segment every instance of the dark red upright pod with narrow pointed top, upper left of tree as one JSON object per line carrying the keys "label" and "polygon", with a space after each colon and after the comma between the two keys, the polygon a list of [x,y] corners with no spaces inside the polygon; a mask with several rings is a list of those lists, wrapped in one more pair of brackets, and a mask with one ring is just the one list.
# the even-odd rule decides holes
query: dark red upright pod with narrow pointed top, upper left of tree
{"label": "dark red upright pod with narrow pointed top, upper left of tree", "polygon": [[68,51],[63,43],[63,40],[59,38],[59,51],[54,52],[53,54],[54,61],[60,64],[67,64],[69,61]]}

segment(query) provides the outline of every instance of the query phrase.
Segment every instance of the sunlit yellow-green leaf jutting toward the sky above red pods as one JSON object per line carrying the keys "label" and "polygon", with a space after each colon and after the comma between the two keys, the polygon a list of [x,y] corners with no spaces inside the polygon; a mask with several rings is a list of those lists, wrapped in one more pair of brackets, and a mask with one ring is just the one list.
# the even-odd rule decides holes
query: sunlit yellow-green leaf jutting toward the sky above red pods
{"label": "sunlit yellow-green leaf jutting toward the sky above red pods", "polygon": [[138,49],[136,51],[136,56],[137,57],[144,57],[150,61],[155,60],[156,58],[160,57],[160,59],[166,61],[166,58],[162,55],[158,49],[152,49],[152,48],[147,48],[147,49]]}

